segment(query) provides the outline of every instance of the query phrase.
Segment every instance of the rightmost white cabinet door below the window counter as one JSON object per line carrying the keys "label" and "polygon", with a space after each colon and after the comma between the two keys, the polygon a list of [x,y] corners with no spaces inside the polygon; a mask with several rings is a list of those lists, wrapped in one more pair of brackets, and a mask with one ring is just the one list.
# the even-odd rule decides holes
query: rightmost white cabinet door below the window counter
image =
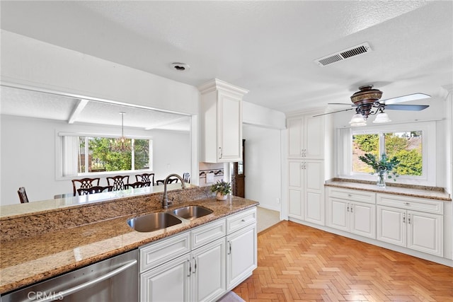
{"label": "rightmost white cabinet door below the window counter", "polygon": [[407,211],[408,248],[442,257],[442,216]]}

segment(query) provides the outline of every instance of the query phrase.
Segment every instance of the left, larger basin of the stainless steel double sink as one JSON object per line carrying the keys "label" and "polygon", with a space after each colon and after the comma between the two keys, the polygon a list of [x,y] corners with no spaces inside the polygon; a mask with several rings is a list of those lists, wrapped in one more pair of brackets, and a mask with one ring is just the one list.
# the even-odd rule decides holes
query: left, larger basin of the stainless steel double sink
{"label": "left, larger basin of the stainless steel double sink", "polygon": [[137,232],[152,232],[182,223],[178,217],[165,212],[152,213],[127,220],[127,224]]}

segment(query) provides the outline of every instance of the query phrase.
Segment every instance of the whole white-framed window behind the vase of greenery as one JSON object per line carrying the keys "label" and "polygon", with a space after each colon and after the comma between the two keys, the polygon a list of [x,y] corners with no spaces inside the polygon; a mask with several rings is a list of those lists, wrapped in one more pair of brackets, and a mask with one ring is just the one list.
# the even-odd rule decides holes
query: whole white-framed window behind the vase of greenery
{"label": "whole white-framed window behind the vase of greenery", "polygon": [[[435,185],[435,122],[379,125],[338,130],[338,175],[374,180],[374,171],[359,156],[372,153],[398,158],[398,182]],[[432,156],[430,156],[432,154]]]}

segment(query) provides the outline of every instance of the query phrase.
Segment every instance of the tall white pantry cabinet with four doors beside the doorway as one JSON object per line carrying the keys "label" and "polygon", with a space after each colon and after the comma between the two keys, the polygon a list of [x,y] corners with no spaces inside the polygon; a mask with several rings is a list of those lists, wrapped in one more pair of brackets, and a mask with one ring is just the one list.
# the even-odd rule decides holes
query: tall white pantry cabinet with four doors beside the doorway
{"label": "tall white pantry cabinet with four doors beside the doorway", "polygon": [[324,225],[324,117],[287,118],[288,216]]}

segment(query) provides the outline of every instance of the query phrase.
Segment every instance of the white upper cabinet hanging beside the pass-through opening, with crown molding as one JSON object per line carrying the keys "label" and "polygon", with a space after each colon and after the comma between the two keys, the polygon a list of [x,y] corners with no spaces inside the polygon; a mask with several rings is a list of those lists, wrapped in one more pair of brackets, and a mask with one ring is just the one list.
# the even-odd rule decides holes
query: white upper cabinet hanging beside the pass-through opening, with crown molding
{"label": "white upper cabinet hanging beside the pass-through opening, with crown molding", "polygon": [[201,161],[242,161],[242,98],[248,91],[218,79],[199,86],[198,90],[201,93]]}

